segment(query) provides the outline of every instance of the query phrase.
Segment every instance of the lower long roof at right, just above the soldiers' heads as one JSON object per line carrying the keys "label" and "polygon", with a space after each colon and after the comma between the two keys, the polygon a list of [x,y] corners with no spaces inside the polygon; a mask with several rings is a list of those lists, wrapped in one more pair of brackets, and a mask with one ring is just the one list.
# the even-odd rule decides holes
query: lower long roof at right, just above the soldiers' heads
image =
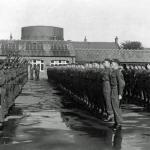
{"label": "lower long roof at right, just above the soldiers' heads", "polygon": [[150,62],[150,50],[78,49],[76,62],[102,61],[105,58],[119,59],[121,62]]}

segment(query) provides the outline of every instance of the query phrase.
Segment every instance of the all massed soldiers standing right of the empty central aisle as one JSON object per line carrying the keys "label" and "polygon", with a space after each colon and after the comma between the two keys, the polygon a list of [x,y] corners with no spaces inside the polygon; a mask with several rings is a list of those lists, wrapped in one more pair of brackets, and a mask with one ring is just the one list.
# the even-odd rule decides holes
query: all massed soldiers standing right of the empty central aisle
{"label": "all massed soldiers standing right of the empty central aisle", "polygon": [[105,59],[102,63],[51,67],[48,78],[56,81],[90,109],[101,113],[105,121],[121,127],[122,102],[150,106],[150,65],[120,64]]}

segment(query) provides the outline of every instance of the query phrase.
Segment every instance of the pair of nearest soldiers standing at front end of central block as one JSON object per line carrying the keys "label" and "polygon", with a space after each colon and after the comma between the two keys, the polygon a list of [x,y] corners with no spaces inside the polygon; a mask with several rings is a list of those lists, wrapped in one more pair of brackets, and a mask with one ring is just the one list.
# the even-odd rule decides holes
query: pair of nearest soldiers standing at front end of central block
{"label": "pair of nearest soldiers standing at front end of central block", "polygon": [[113,59],[112,61],[105,59],[103,66],[103,94],[107,110],[107,119],[105,121],[114,120],[113,127],[119,129],[123,122],[120,101],[125,81],[119,69],[119,61],[117,59]]}

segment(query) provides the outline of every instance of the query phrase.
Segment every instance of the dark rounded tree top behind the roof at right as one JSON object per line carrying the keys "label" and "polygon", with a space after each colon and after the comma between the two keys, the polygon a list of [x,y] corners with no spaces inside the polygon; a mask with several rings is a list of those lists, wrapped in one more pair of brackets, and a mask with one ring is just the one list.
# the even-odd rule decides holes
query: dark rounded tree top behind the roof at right
{"label": "dark rounded tree top behind the roof at right", "polygon": [[121,44],[123,49],[144,49],[139,41],[125,41]]}

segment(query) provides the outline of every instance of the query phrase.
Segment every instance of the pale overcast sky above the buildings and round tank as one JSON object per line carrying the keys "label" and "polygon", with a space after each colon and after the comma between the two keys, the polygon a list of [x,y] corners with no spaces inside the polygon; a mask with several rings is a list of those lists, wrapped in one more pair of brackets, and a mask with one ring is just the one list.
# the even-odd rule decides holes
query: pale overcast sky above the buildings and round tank
{"label": "pale overcast sky above the buildings and round tank", "polygon": [[141,41],[150,47],[150,0],[0,0],[0,39],[21,27],[64,28],[65,40]]}

